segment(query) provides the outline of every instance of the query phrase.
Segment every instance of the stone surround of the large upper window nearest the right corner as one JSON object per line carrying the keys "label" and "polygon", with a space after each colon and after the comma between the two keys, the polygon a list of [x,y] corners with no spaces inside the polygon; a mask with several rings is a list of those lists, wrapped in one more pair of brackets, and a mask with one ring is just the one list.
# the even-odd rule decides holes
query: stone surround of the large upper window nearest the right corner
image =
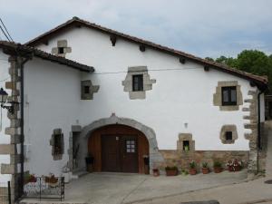
{"label": "stone surround of the large upper window nearest the right corner", "polygon": [[[222,87],[236,87],[236,105],[222,105]],[[219,106],[220,111],[238,111],[239,106],[243,104],[243,95],[241,92],[241,86],[238,84],[238,81],[222,81],[218,82],[218,86],[216,87],[216,92],[213,94],[213,105]]]}

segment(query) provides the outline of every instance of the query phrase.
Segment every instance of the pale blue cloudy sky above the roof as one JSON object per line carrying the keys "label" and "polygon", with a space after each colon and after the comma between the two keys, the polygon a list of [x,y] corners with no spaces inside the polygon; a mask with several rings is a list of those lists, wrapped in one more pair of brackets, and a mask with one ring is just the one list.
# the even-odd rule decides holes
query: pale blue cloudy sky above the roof
{"label": "pale blue cloudy sky above the roof", "polygon": [[271,54],[271,11],[271,0],[0,0],[0,16],[21,44],[78,16],[200,57]]}

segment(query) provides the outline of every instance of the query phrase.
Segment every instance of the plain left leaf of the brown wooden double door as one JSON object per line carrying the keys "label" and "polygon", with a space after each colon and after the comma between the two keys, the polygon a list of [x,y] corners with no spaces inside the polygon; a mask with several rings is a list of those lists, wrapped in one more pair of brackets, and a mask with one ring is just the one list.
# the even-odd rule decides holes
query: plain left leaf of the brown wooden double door
{"label": "plain left leaf of the brown wooden double door", "polygon": [[121,171],[119,147],[119,136],[102,135],[102,171]]}

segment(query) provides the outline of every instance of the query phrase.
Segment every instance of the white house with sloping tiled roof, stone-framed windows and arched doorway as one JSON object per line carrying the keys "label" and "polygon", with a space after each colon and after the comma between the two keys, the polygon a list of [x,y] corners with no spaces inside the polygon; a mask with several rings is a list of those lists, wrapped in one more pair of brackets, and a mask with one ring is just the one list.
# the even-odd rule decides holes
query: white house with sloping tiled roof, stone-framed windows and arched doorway
{"label": "white house with sloping tiled roof, stone-framed windows and arched doorway", "polygon": [[[149,157],[150,170],[238,159],[257,172],[266,77],[76,17],[27,44],[0,48],[15,71],[16,87],[5,86],[24,104],[5,130],[16,138],[11,143],[24,134],[24,171],[58,176],[67,162],[85,170],[91,154],[95,171],[144,173]],[[17,146],[1,144],[0,153],[13,158]],[[1,172],[19,172],[21,161],[11,159]]]}

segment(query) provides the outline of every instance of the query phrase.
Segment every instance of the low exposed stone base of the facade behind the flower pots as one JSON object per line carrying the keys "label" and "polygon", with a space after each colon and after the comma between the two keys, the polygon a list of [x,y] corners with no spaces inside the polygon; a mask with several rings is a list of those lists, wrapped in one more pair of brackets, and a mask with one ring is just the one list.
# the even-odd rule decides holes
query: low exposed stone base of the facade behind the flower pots
{"label": "low exposed stone base of the facade behind the flower pots", "polygon": [[156,168],[164,172],[166,166],[177,166],[179,170],[189,170],[189,162],[195,160],[197,162],[198,170],[202,167],[202,162],[208,162],[209,168],[212,170],[213,162],[219,161],[226,168],[228,160],[242,160],[244,167],[248,167],[249,151],[193,151],[193,152],[179,152],[160,150],[164,159],[163,162],[156,162]]}

